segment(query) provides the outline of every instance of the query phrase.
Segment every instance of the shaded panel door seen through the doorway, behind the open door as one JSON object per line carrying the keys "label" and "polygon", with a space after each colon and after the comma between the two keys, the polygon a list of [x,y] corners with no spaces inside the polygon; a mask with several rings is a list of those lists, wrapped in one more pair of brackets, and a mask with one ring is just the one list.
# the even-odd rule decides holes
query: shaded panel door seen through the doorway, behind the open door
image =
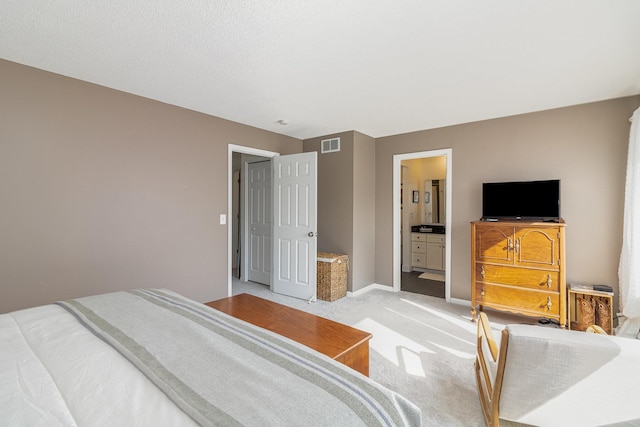
{"label": "shaded panel door seen through the doorway, behind the open door", "polygon": [[247,280],[271,278],[271,161],[247,165]]}

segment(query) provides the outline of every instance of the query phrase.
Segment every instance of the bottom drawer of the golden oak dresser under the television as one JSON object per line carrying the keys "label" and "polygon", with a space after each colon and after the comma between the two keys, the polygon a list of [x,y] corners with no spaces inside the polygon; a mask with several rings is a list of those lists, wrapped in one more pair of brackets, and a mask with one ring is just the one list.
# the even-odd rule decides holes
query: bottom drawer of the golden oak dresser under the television
{"label": "bottom drawer of the golden oak dresser under the television", "polygon": [[476,303],[547,317],[560,316],[560,295],[510,286],[476,283]]}

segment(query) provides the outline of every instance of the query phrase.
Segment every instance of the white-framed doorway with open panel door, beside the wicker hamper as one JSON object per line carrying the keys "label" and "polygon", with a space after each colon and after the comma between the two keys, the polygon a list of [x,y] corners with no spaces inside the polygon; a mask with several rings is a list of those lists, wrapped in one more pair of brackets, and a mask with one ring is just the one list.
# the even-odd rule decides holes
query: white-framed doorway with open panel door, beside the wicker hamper
{"label": "white-framed doorway with open panel door, beside the wicker hamper", "polygon": [[[228,295],[233,295],[233,279],[239,273],[242,281],[262,282],[273,292],[315,299],[317,153],[281,156],[228,147]],[[250,163],[262,166],[254,169]],[[248,178],[252,171],[263,179]],[[268,188],[262,182],[265,175]],[[262,219],[254,221],[257,217]],[[220,216],[220,223],[226,224],[226,215]],[[254,274],[254,267],[263,271]]]}

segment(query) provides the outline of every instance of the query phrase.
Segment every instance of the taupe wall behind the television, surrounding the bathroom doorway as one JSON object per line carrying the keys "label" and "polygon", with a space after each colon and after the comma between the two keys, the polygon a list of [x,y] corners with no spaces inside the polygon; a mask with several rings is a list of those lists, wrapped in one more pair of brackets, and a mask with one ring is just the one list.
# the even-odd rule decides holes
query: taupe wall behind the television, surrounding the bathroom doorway
{"label": "taupe wall behind the television, surrounding the bathroom doorway", "polygon": [[451,295],[470,299],[470,226],[485,181],[562,180],[567,280],[617,288],[628,119],[640,97],[487,120],[376,141],[376,280],[392,284],[393,155],[452,149]]}

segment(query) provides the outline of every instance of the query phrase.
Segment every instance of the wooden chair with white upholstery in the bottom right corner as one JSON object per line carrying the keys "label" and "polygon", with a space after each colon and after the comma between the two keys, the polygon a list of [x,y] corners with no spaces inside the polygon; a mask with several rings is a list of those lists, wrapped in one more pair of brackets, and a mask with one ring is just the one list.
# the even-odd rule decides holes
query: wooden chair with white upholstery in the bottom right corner
{"label": "wooden chair with white upholstery in the bottom right corner", "polygon": [[640,340],[589,330],[510,324],[496,341],[481,312],[475,376],[486,424],[640,426]]}

